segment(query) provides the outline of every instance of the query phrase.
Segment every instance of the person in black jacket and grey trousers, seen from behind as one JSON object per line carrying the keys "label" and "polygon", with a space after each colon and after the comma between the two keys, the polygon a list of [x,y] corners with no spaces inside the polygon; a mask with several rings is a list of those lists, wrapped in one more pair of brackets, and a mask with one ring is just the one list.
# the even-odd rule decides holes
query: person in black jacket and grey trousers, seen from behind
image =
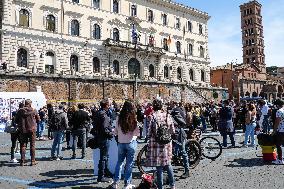
{"label": "person in black jacket and grey trousers, seen from behind", "polygon": [[90,121],[89,114],[84,110],[84,104],[78,104],[78,111],[76,111],[72,117],[72,137],[73,137],[73,155],[72,159],[76,159],[76,148],[78,137],[82,139],[82,159],[86,156],[86,128]]}

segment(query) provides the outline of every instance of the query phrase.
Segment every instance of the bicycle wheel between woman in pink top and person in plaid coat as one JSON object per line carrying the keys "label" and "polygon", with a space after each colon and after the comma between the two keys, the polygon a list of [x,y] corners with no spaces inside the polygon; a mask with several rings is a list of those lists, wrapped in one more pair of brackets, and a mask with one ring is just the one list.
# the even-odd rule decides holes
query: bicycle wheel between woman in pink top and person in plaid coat
{"label": "bicycle wheel between woman in pink top and person in plaid coat", "polygon": [[145,145],[137,155],[137,167],[141,174],[154,174],[156,172],[156,167],[147,167],[147,153],[148,145]]}

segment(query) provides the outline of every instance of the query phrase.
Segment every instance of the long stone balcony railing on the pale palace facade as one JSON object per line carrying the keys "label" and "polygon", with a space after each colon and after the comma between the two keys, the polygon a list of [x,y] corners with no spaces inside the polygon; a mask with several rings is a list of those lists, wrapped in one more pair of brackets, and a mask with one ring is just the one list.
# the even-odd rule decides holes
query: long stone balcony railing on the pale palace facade
{"label": "long stone balcony railing on the pale palace facade", "polygon": [[130,41],[116,41],[116,40],[108,38],[105,40],[104,45],[107,47],[132,49],[132,50],[136,50],[137,52],[145,51],[147,53],[158,54],[158,55],[165,54],[162,48],[155,47],[154,45],[143,45],[139,42],[135,44]]}

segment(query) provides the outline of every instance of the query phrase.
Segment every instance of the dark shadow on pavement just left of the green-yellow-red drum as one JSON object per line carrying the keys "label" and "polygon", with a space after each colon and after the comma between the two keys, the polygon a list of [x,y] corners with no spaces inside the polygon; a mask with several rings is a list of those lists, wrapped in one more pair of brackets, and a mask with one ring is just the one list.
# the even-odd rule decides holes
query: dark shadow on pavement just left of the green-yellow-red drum
{"label": "dark shadow on pavement just left of the green-yellow-red drum", "polygon": [[264,162],[261,158],[252,158],[252,159],[234,159],[229,161],[230,164],[224,165],[225,167],[257,167],[269,165],[270,163]]}

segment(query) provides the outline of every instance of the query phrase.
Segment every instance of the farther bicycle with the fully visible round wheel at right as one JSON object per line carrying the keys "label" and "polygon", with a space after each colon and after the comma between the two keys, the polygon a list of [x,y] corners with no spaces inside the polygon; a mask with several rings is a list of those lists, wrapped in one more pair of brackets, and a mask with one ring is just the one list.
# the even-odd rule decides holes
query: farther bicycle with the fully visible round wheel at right
{"label": "farther bicycle with the fully visible round wheel at right", "polygon": [[[186,130],[186,129],[185,129]],[[190,139],[195,139],[201,146],[202,156],[212,161],[216,160],[222,154],[222,145],[218,139],[212,136],[201,137],[201,129],[187,131],[187,136]]]}

